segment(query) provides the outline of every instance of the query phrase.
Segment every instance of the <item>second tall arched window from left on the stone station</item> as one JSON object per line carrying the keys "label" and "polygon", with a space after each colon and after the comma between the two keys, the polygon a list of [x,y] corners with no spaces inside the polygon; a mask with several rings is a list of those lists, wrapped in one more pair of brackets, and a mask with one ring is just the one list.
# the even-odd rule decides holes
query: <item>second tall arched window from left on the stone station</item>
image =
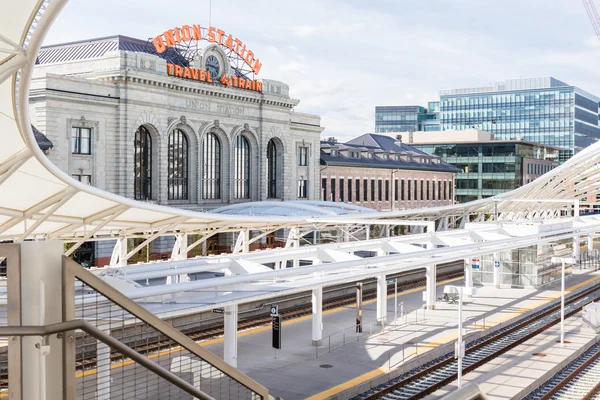
{"label": "second tall arched window from left on the stone station", "polygon": [[169,200],[188,199],[188,140],[185,133],[175,129],[169,135],[167,190]]}

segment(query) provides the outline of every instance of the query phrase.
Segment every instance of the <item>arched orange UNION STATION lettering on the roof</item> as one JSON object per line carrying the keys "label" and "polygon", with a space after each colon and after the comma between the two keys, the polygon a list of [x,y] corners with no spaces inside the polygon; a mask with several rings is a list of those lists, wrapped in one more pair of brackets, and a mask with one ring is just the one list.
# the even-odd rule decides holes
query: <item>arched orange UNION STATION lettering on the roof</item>
{"label": "arched orange UNION STATION lettering on the roof", "polygon": [[[206,29],[206,34],[203,35],[200,25],[183,25],[164,31],[162,34],[152,39],[154,48],[158,54],[164,53],[169,47],[173,47],[181,42],[190,40],[207,40],[209,43],[217,43],[223,48],[227,48],[237,54],[244,63],[246,63],[254,74],[258,74],[262,63],[255,57],[254,52],[246,49],[246,45],[238,38],[232,35],[226,35],[225,31],[217,29],[213,26]],[[232,77],[233,78],[233,77]]]}

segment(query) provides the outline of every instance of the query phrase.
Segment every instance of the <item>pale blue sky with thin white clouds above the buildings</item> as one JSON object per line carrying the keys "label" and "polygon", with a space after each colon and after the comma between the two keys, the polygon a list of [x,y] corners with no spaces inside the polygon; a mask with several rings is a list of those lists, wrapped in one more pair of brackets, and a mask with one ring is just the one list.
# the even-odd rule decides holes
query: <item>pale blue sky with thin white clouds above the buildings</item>
{"label": "pale blue sky with thin white clouds above the buildings", "polygon": [[[600,9],[600,0],[598,6]],[[600,96],[600,39],[580,0],[71,0],[45,43],[141,39],[210,22],[290,86],[324,137],[375,129],[377,105],[439,91],[554,76]]]}

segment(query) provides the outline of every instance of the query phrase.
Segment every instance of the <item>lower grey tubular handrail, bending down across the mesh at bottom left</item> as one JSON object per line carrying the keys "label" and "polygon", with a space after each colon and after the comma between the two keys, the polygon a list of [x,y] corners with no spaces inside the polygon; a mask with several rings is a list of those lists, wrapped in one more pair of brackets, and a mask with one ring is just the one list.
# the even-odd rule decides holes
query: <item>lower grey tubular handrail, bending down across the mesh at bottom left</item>
{"label": "lower grey tubular handrail, bending down across the mesh at bottom left", "polygon": [[106,332],[96,328],[94,325],[87,321],[76,319],[67,322],[60,322],[58,324],[45,325],[45,326],[2,326],[0,327],[0,336],[48,336],[57,333],[64,333],[74,331],[76,329],[86,332],[88,335],[93,336],[97,340],[118,351],[124,356],[132,359],[136,363],[142,365],[149,371],[160,376],[164,380],[173,385],[177,386],[184,392],[202,400],[215,400],[213,397],[202,392],[201,390],[190,385],[185,380],[181,379],[169,370],[164,369],[160,365],[153,363],[146,357],[138,353],[137,351],[129,348],[117,339],[108,335]]}

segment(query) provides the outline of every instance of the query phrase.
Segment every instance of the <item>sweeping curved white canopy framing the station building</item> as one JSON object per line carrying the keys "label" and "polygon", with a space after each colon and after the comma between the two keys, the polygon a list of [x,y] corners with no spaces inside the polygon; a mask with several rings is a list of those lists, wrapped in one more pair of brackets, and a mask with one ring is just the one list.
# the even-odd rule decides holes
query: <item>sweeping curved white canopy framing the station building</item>
{"label": "sweeping curved white canopy framing the station building", "polygon": [[[308,221],[304,216],[265,220],[261,216],[199,213],[138,202],[81,184],[52,164],[34,139],[28,94],[36,55],[66,2],[11,1],[3,4],[0,13],[0,240],[75,239],[81,243],[115,233],[268,230],[314,224],[314,218]],[[420,210],[353,214],[352,219],[489,215],[496,205],[505,218],[555,217],[559,211],[570,209],[574,199],[595,202],[599,158],[600,144],[596,144],[534,182],[495,198]],[[540,198],[566,201],[540,206],[535,201],[508,200]]]}

